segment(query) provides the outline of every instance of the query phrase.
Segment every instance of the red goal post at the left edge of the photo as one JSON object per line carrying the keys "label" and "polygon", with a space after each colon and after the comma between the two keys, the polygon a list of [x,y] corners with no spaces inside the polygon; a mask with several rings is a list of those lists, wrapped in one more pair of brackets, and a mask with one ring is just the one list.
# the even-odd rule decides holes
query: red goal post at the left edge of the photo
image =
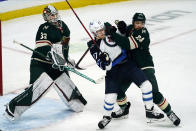
{"label": "red goal post at the left edge of the photo", "polygon": [[0,20],[0,96],[3,95],[3,70],[2,70],[2,34],[1,34],[1,20]]}

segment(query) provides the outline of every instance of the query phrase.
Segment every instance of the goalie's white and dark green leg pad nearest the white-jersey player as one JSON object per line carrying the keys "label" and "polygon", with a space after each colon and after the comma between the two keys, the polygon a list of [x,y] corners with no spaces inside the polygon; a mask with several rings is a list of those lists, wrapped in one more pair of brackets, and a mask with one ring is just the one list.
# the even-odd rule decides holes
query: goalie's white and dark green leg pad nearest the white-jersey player
{"label": "goalie's white and dark green leg pad nearest the white-jersey player", "polygon": [[75,112],[83,111],[87,101],[83,98],[75,84],[67,76],[66,73],[61,74],[54,83],[55,90],[61,100]]}

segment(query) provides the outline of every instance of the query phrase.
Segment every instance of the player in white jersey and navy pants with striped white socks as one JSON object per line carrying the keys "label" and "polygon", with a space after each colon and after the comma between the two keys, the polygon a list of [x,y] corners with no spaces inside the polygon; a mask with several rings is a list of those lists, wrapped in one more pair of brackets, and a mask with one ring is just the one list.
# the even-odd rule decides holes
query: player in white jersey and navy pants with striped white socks
{"label": "player in white jersey and navy pants with striped white socks", "polygon": [[103,23],[99,20],[90,22],[89,28],[96,42],[95,44],[91,40],[87,43],[90,53],[97,65],[106,70],[105,112],[103,119],[98,123],[99,128],[104,128],[111,121],[111,113],[117,100],[117,94],[122,91],[121,84],[130,81],[140,87],[149,119],[163,119],[164,115],[156,113],[153,108],[152,85],[135,62],[127,59],[127,50],[130,50],[129,39],[117,34],[116,28],[109,23]]}

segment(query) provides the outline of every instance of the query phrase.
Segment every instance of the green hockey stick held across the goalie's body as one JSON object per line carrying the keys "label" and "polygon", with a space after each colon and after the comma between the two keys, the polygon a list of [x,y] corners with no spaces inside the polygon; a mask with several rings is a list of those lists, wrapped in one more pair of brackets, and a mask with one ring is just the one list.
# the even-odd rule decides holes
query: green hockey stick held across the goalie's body
{"label": "green hockey stick held across the goalie's body", "polygon": [[[24,45],[24,44],[21,43],[21,42],[18,42],[18,41],[15,41],[15,40],[14,40],[13,43],[18,44],[18,45],[20,45],[20,46],[23,46],[24,48],[33,51],[34,53],[36,53],[37,55],[39,55],[39,56],[41,56],[41,57],[43,57],[43,58],[51,59],[51,58],[49,58],[49,57],[43,55],[42,53],[40,53],[40,52],[38,52],[38,51],[35,51],[35,50],[29,48],[28,46]],[[96,82],[95,80],[93,80],[93,79],[91,79],[90,77],[88,77],[88,76],[86,76],[86,75],[80,73],[79,71],[75,70],[74,68],[70,68],[70,67],[68,67],[68,66],[64,66],[64,68],[67,69],[68,71],[71,71],[71,72],[73,72],[73,73],[75,73],[75,74],[77,74],[77,75],[79,75],[79,76],[81,76],[81,77],[83,77],[83,78],[85,78],[85,79],[87,79],[87,80],[89,80],[89,81],[95,83],[95,84],[98,84],[98,83],[99,83],[99,81]]]}

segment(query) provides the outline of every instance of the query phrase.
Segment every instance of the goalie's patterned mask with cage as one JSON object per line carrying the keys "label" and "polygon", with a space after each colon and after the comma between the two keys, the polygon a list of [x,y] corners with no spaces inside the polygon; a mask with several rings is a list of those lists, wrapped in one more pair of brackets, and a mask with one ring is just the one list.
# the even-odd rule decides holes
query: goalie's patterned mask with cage
{"label": "goalie's patterned mask with cage", "polygon": [[58,10],[52,5],[44,8],[42,16],[49,23],[56,23],[59,20]]}

